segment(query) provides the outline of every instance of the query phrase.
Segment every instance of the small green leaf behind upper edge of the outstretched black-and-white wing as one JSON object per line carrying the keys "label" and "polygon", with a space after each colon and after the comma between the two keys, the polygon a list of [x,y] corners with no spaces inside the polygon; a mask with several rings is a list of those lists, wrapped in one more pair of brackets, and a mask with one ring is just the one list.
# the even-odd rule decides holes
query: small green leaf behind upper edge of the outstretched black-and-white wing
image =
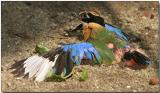
{"label": "small green leaf behind upper edge of the outstretched black-and-white wing", "polygon": [[49,51],[49,49],[45,47],[43,43],[37,44],[35,50],[40,55]]}

